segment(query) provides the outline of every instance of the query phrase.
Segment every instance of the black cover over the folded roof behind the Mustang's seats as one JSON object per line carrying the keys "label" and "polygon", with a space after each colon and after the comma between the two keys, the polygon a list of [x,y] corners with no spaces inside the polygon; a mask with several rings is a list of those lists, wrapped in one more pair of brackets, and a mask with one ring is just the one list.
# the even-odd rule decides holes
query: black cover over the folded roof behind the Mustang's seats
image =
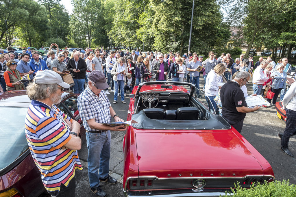
{"label": "black cover over the folded roof behind the Mustang's seats", "polygon": [[148,118],[141,110],[138,114],[133,114],[131,119],[138,122],[132,124],[137,129],[217,130],[231,128],[229,123],[219,115],[206,112],[205,117],[207,120],[155,120]]}

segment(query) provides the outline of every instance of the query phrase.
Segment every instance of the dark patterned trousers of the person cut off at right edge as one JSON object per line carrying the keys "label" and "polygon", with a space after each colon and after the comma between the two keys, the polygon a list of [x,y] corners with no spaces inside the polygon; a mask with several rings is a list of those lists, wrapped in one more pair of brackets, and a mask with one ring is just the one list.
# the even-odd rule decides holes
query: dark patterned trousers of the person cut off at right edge
{"label": "dark patterned trousers of the person cut off at right edge", "polygon": [[281,138],[281,146],[288,148],[289,139],[292,135],[296,134],[295,125],[296,125],[296,112],[291,109],[286,109],[286,128],[284,135]]}

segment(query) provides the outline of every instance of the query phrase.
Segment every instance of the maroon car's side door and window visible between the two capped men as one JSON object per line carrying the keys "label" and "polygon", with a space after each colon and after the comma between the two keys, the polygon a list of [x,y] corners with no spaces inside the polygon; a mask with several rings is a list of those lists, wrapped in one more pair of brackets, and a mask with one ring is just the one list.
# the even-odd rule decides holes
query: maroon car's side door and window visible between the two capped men
{"label": "maroon car's side door and window visible between the two capped men", "polygon": [[80,137],[81,137],[81,140],[84,141],[85,128],[83,127],[83,122],[80,119],[80,115],[78,112],[77,96],[70,95],[65,97],[62,100],[62,102],[59,104],[58,108],[80,124]]}

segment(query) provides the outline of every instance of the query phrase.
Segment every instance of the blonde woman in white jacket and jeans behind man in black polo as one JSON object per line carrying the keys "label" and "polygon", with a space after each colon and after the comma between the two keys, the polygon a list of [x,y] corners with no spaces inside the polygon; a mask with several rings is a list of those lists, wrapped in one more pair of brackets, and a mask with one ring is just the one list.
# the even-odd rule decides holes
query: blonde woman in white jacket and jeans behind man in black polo
{"label": "blonde woman in white jacket and jeans behind man in black polo", "polygon": [[[214,101],[215,96],[218,94],[219,89],[221,86],[218,86],[218,83],[223,82],[221,74],[225,72],[226,68],[224,64],[220,63],[217,64],[214,69],[212,69],[209,74],[207,75],[207,80],[205,83],[205,95],[211,101],[212,105],[210,105],[209,101],[209,108],[216,112],[217,105]],[[220,75],[220,76],[219,76]]]}

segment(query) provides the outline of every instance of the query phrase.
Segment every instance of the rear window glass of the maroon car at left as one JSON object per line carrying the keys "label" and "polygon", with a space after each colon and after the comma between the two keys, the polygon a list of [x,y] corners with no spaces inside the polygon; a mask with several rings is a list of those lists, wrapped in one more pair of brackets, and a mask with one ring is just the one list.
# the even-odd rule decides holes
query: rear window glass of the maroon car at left
{"label": "rear window glass of the maroon car at left", "polygon": [[27,108],[0,107],[0,169],[7,167],[26,150],[25,135]]}

